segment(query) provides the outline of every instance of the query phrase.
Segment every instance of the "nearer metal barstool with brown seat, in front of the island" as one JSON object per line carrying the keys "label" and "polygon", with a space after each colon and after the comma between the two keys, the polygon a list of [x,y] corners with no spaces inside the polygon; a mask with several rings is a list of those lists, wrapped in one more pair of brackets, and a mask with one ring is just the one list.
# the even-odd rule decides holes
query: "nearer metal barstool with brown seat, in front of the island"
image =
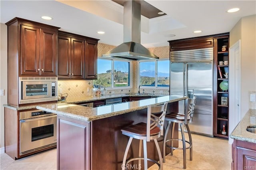
{"label": "nearer metal barstool with brown seat, in front of the island", "polygon": [[[159,147],[156,139],[159,138],[161,135],[163,135],[164,118],[165,118],[165,114],[166,114],[166,109],[167,109],[167,102],[165,102],[164,105],[160,105],[160,106],[148,106],[147,122],[146,123],[138,123],[135,125],[125,127],[121,130],[122,134],[124,134],[126,136],[130,136],[130,138],[128,140],[128,144],[126,146],[126,150],[124,152],[122,170],[126,169],[127,164],[134,160],[138,160],[139,165],[141,163],[141,160],[144,160],[144,169],[145,170],[148,169],[148,163],[147,163],[148,160],[156,163],[159,166],[159,169],[161,169],[161,170],[163,169],[162,154],[161,154],[160,147]],[[158,127],[158,126],[160,126],[160,127]],[[139,157],[126,160],[133,138],[140,140],[140,142],[139,142]],[[141,157],[142,140],[143,140],[144,157]],[[160,163],[158,163],[156,160],[153,160],[153,159],[150,159],[147,157],[147,142],[149,142],[150,140],[154,140]],[[139,169],[140,169],[140,166],[139,166]]]}

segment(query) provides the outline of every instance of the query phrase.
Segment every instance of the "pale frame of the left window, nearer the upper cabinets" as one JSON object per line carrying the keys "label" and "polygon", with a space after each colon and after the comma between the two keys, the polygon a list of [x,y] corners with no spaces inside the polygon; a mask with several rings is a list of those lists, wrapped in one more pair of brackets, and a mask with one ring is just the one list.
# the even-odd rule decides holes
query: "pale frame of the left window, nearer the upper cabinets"
{"label": "pale frame of the left window, nearer the upper cabinets", "polygon": [[[103,57],[98,57],[98,59],[109,60],[111,61],[111,87],[106,87],[106,90],[118,90],[118,89],[132,89],[132,63],[131,60],[124,60],[124,59],[108,59]],[[97,59],[97,62],[98,62]],[[129,86],[121,86],[121,87],[114,87],[114,61],[124,61],[129,63]],[[98,72],[98,70],[97,70]]]}

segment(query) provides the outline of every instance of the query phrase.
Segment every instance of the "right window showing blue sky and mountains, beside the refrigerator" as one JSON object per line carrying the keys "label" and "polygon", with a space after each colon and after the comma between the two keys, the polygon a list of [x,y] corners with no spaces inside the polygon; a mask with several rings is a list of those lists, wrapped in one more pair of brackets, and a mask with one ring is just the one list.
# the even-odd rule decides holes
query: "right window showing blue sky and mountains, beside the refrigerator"
{"label": "right window showing blue sky and mountains, beside the refrigerator", "polygon": [[163,88],[170,86],[170,60],[140,61],[138,70],[140,85]]}

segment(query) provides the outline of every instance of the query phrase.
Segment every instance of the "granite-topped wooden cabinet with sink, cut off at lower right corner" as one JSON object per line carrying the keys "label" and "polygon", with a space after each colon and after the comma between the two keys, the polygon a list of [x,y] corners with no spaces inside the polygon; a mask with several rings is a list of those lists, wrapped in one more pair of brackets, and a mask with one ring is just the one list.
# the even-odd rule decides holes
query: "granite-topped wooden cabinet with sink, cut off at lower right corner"
{"label": "granite-topped wooden cabinet with sink, cut off at lower right corner", "polygon": [[[248,128],[248,129],[247,129]],[[230,134],[232,170],[256,169],[256,109],[250,109]]]}

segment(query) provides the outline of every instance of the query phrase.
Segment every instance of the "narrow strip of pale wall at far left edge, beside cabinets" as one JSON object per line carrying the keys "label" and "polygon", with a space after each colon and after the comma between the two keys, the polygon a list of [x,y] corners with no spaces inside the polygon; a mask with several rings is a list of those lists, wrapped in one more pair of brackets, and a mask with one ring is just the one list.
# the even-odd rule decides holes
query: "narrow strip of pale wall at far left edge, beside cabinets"
{"label": "narrow strip of pale wall at far left edge, beside cabinets", "polygon": [[4,107],[7,104],[7,26],[0,25],[0,89],[4,89],[4,96],[0,96],[0,148],[4,147]]}

